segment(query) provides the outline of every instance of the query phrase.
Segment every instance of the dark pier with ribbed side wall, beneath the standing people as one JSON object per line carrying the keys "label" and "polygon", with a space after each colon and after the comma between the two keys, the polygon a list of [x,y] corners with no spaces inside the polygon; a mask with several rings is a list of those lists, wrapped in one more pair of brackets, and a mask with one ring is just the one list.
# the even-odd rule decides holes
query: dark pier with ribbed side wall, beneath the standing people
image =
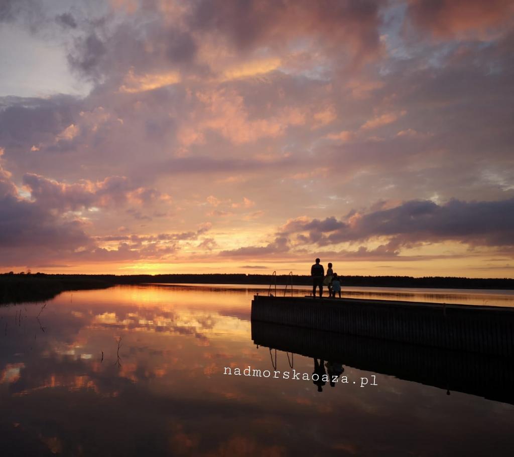
{"label": "dark pier with ribbed side wall, beneath the standing people", "polygon": [[514,357],[514,308],[255,295],[251,319],[252,322]]}

